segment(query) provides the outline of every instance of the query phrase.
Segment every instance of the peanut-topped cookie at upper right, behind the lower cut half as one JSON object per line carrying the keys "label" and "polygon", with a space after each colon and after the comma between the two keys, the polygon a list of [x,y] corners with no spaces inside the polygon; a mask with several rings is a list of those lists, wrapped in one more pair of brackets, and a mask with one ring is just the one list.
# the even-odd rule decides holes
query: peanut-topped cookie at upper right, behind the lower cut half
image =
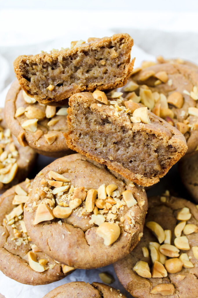
{"label": "peanut-topped cookie at upper right, behind the lower cut half", "polygon": [[[148,65],[148,66],[147,66]],[[198,148],[198,68],[161,63],[134,69],[123,87],[128,100],[148,106],[185,136],[187,153]]]}

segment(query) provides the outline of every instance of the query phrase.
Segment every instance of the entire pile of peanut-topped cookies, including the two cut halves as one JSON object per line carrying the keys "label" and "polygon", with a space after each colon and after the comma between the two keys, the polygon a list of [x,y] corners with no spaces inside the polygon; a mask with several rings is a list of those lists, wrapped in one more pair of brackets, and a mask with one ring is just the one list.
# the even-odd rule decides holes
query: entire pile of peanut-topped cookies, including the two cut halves
{"label": "entire pile of peanut-topped cookies, including the two cut halves", "polygon": [[[198,68],[158,57],[133,69],[132,45],[115,34],[14,61],[0,127],[8,277],[43,285],[114,263],[135,298],[198,297],[198,209],[169,190],[147,200],[144,188],[181,159],[198,202]],[[30,180],[37,153],[57,159]],[[45,297],[125,296],[73,282]]]}

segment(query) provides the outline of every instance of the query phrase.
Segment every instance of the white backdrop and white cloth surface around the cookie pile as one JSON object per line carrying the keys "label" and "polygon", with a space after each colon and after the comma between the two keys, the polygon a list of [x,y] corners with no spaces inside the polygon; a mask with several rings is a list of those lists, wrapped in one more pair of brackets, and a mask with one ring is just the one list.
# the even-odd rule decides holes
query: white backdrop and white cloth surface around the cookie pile
{"label": "white backdrop and white cloth surface around the cookie pile", "polygon": [[[117,32],[127,32],[134,38],[132,57],[136,57],[136,66],[142,60],[155,60],[157,55],[198,63],[198,1],[195,0],[0,0],[0,105],[4,105],[9,85],[15,78],[12,63],[18,55],[60,49],[68,47],[72,40]],[[6,298],[41,298],[70,280],[100,281],[98,272],[103,270],[86,271],[86,274],[78,270],[61,282],[37,287],[21,285],[0,272],[0,292]],[[107,271],[113,273],[112,266]],[[113,286],[121,288],[118,281]]]}

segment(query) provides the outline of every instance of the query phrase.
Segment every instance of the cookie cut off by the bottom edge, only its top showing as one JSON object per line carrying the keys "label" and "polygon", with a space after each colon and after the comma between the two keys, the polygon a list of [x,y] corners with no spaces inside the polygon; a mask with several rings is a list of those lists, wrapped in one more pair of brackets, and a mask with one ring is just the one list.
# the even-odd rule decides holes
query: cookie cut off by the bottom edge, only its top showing
{"label": "cookie cut off by the bottom edge, only its top showing", "polygon": [[110,287],[109,285],[105,285],[103,283],[89,283],[85,282],[72,282],[66,283],[65,285],[61,285],[48,294],[46,294],[43,298],[126,298],[123,294],[120,293],[119,290]]}

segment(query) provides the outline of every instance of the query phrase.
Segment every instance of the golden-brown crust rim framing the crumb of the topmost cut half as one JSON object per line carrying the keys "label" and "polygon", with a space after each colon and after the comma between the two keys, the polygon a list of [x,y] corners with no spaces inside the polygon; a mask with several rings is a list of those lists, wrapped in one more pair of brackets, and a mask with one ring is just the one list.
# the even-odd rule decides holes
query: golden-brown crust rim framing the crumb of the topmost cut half
{"label": "golden-brown crust rim framing the crumb of the topmost cut half", "polygon": [[[46,63],[52,63],[53,61],[62,61],[63,58],[67,58],[67,57],[75,57],[75,55],[78,55],[81,52],[86,52],[90,49],[97,49],[100,47],[105,47],[105,46],[109,46],[111,42],[116,43],[117,41],[121,41],[121,40],[125,40],[125,44],[126,44],[126,49],[124,50],[123,56],[125,55],[125,67],[123,69],[123,73],[122,75],[120,75],[119,77],[115,78],[112,77],[112,80],[110,80],[110,83],[105,83],[105,80],[103,81],[97,81],[94,83],[88,83],[86,85],[80,84],[79,86],[76,83],[71,83],[68,86],[65,86],[64,88],[62,88],[60,90],[60,88],[58,86],[55,86],[55,88],[53,89],[53,91],[49,91],[47,90],[47,86],[49,86],[53,80],[56,81],[56,79],[54,78],[54,75],[52,75],[51,78],[49,78],[49,84],[46,86],[45,91],[41,91],[39,90],[39,87],[37,86],[38,84],[34,84],[30,87],[30,79],[27,80],[27,74],[25,74],[23,67],[25,67],[25,65],[29,64],[29,63],[35,63],[35,65],[38,63],[42,63],[41,61],[45,61]],[[104,37],[102,39],[99,39],[95,42],[91,42],[91,43],[87,43],[87,44],[81,44],[79,46],[75,46],[72,49],[69,50],[61,50],[58,52],[53,52],[51,54],[48,53],[44,53],[44,54],[38,54],[38,55],[30,55],[30,56],[19,56],[15,61],[14,61],[14,69],[15,69],[15,73],[16,76],[18,78],[18,81],[20,83],[20,85],[22,86],[23,90],[26,91],[26,93],[31,96],[34,97],[37,101],[39,101],[40,103],[44,103],[44,104],[48,104],[50,102],[53,101],[61,101],[64,100],[65,98],[69,98],[72,94],[86,90],[94,90],[94,89],[99,89],[99,90],[106,90],[106,89],[112,89],[112,88],[117,88],[117,87],[122,87],[130,73],[132,72],[133,69],[133,64],[134,64],[134,60],[132,60],[130,62],[130,53],[131,53],[131,47],[133,45],[133,40],[132,38],[128,35],[128,34],[114,34],[112,37]],[[27,64],[26,64],[27,63]],[[99,64],[99,62],[97,62]],[[121,62],[123,63],[123,62]],[[84,77],[87,77],[84,75]],[[83,77],[81,77],[81,81]],[[46,84],[46,79],[45,79],[45,84]],[[60,82],[58,82],[60,83]],[[54,83],[55,85],[57,85],[58,83]],[[41,82],[42,85],[42,82]],[[33,86],[35,88],[35,91],[33,92]],[[37,90],[37,91],[36,91]]]}

